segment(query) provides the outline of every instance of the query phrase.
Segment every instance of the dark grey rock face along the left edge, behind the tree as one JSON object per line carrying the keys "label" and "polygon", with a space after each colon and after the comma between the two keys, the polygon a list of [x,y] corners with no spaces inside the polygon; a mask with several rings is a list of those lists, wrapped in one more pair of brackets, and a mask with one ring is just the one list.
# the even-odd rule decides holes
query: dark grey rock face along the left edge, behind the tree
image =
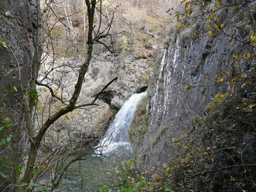
{"label": "dark grey rock face along the left edge, behind the tree", "polygon": [[[34,30],[36,30],[35,4],[34,1],[28,1],[30,20]],[[0,45],[0,124],[3,123],[4,118],[11,120],[11,127],[2,132],[0,138],[6,138],[12,134],[16,150],[15,154],[13,150],[8,150],[6,154],[2,153],[3,148],[1,148],[1,158],[8,156],[10,162],[15,159],[15,165],[19,165],[25,138],[20,84],[26,87],[31,78],[31,59],[35,49],[32,33],[35,32],[31,30],[24,0],[0,1],[0,20],[0,36],[7,45],[6,47]],[[14,86],[17,91],[13,89]],[[10,173],[10,170],[3,168],[1,172]],[[0,189],[10,184],[8,180],[3,180],[3,177],[0,177],[0,180],[1,183],[3,182]]]}

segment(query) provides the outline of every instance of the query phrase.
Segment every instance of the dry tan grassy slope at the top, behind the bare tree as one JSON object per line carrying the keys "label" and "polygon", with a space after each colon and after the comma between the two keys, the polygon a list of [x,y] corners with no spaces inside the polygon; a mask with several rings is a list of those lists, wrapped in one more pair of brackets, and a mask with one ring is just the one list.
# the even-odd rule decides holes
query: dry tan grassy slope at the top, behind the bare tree
{"label": "dry tan grassy slope at the top, behind the bare tree", "polygon": [[[158,45],[163,44],[166,28],[173,19],[166,11],[171,8],[175,10],[179,4],[180,1],[168,0],[105,0],[102,2],[105,17],[101,22],[101,30],[108,26],[113,10],[119,6],[110,31],[118,34],[113,38],[115,50],[133,52],[137,56],[148,56],[157,49]],[[84,13],[86,14],[83,1],[65,0],[61,4],[54,4],[52,10],[54,13],[49,12],[45,21],[45,29],[48,35],[50,34],[48,44],[53,44],[55,51],[61,56],[65,56],[67,52],[68,54],[83,52],[85,45],[83,18]],[[71,16],[67,17],[66,13]],[[99,17],[100,14],[97,12],[95,29],[99,27]],[[72,32],[67,28],[68,19],[72,20]],[[104,43],[111,45],[110,40]]]}

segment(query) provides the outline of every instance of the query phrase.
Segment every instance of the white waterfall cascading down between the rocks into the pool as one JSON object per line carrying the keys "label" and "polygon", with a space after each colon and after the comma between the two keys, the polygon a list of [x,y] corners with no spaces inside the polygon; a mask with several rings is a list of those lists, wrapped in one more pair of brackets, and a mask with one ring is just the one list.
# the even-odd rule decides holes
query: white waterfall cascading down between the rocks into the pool
{"label": "white waterfall cascading down between the rocks into the pool", "polygon": [[118,147],[130,147],[126,132],[131,124],[136,106],[146,95],[147,92],[136,93],[124,103],[124,106],[122,106],[122,108],[118,111],[113,122],[111,122],[109,125],[104,138],[102,138],[99,145],[97,145],[97,153],[109,154]]}

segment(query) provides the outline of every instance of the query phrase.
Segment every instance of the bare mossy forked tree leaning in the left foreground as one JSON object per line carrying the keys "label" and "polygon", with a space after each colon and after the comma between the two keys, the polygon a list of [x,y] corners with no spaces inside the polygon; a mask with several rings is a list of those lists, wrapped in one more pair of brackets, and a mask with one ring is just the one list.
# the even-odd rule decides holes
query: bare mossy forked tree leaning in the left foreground
{"label": "bare mossy forked tree leaning in the left foreground", "polygon": [[[40,4],[39,0],[36,1],[38,4]],[[106,18],[104,13],[102,12],[102,1],[96,1],[96,0],[86,0],[86,11],[87,11],[87,20],[86,22],[84,21],[84,31],[86,31],[86,53],[85,53],[85,61],[82,63],[82,65],[79,65],[77,69],[79,69],[79,74],[77,78],[77,83],[76,86],[74,87],[74,92],[70,95],[70,97],[62,97],[61,95],[58,95],[56,92],[54,92],[54,88],[51,87],[51,84],[45,84],[44,80],[49,78],[51,72],[59,68],[60,66],[56,66],[50,68],[50,70],[47,72],[46,76],[43,77],[40,81],[36,80],[37,77],[37,72],[38,72],[38,66],[40,63],[34,63],[33,68],[32,68],[32,79],[31,79],[31,85],[29,86],[28,89],[23,90],[23,95],[24,95],[24,110],[26,113],[26,127],[28,129],[28,137],[29,137],[29,143],[30,143],[30,148],[29,148],[29,155],[28,155],[28,162],[26,164],[26,170],[24,172],[24,176],[22,179],[20,179],[19,184],[29,184],[31,182],[31,179],[33,177],[33,170],[35,169],[35,159],[36,156],[38,155],[38,148],[40,148],[40,144],[42,143],[42,140],[45,136],[45,132],[51,127],[54,122],[56,122],[58,119],[61,118],[61,116],[66,115],[67,113],[70,113],[71,111],[74,111],[74,109],[81,109],[85,108],[88,106],[97,106],[95,104],[96,100],[99,98],[100,94],[109,86],[109,84],[113,83],[117,77],[112,79],[106,86],[100,90],[99,93],[95,96],[93,100],[91,100],[88,103],[80,103],[77,104],[77,100],[79,99],[79,95],[81,93],[81,88],[84,82],[84,76],[86,72],[88,71],[88,67],[91,64],[92,58],[93,58],[93,45],[94,44],[102,44],[105,47],[108,47],[108,45],[104,44],[102,40],[109,35],[111,25],[113,23],[113,17],[115,14],[115,10],[113,11],[113,17],[111,19],[108,19],[108,24],[106,25],[106,28],[102,29],[102,18]],[[54,12],[54,10],[51,8],[51,5],[54,4],[54,1],[47,1],[45,2],[46,7],[49,9],[45,9],[45,15],[54,15],[55,17],[58,18],[58,15]],[[69,4],[69,3],[68,3]],[[39,6],[38,6],[39,9]],[[51,10],[51,12],[50,12]],[[99,14],[99,24],[97,24],[97,27],[95,25],[95,14]],[[40,17],[40,13],[38,11],[38,17]],[[65,17],[70,17],[70,13],[67,13]],[[70,31],[73,31],[72,29],[72,19],[69,18],[68,20],[68,25],[67,28],[69,28]],[[58,18],[58,21],[61,21],[61,18]],[[88,26],[86,26],[86,23],[88,23]],[[64,24],[65,25],[65,24]],[[53,28],[49,28],[49,26],[46,26],[48,31],[47,36],[51,37],[51,32]],[[50,32],[50,33],[49,33]],[[37,33],[39,35],[39,33]],[[73,34],[73,33],[72,33]],[[76,37],[73,34],[72,38],[74,38],[74,42],[76,42]],[[35,36],[33,39],[35,45],[40,44],[38,36]],[[52,43],[54,39],[50,38],[50,42]],[[75,45],[76,47],[76,45]],[[108,48],[109,49],[109,48]],[[36,49],[38,50],[38,49]],[[109,49],[110,50],[110,49]],[[54,47],[52,47],[52,51],[54,52]],[[39,54],[35,51],[35,56],[36,58],[39,57]],[[44,59],[44,58],[43,58]],[[61,109],[58,111],[55,111],[53,114],[49,114],[49,116],[43,120],[44,123],[38,128],[35,129],[35,123],[33,121],[33,117],[31,117],[31,106],[36,105],[36,100],[37,100],[37,92],[35,90],[35,84],[38,84],[40,86],[45,86],[45,88],[49,89],[49,92],[51,92],[51,97],[57,100],[60,100],[63,106],[61,106]],[[58,147],[58,146],[57,146]],[[48,154],[48,156],[45,158],[51,159],[52,156],[54,156],[54,153],[58,150],[58,148],[55,148],[52,150],[51,153]],[[78,157],[78,159],[81,159],[82,157]],[[43,159],[41,161],[41,165],[46,162],[46,160]],[[77,159],[76,159],[77,160]],[[67,170],[67,167],[65,168]],[[63,172],[64,173],[64,172]],[[60,177],[61,179],[61,177]],[[53,186],[53,189],[58,186],[60,183],[60,179],[56,182],[56,184]],[[24,185],[22,185],[24,186]],[[17,191],[23,191],[24,187],[19,187],[17,188]]]}

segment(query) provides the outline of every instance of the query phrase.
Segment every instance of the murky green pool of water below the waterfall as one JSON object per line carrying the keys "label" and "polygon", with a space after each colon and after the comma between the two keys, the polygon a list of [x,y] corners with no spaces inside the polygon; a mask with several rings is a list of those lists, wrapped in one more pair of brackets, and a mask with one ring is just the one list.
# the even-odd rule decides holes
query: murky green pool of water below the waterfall
{"label": "murky green pool of water below the waterfall", "polygon": [[[111,186],[114,180],[107,173],[110,172],[109,164],[116,162],[116,157],[97,156],[90,156],[86,161],[76,161],[69,166],[67,176],[54,191],[95,191],[100,189],[99,184]],[[112,191],[116,190],[112,188]]]}

